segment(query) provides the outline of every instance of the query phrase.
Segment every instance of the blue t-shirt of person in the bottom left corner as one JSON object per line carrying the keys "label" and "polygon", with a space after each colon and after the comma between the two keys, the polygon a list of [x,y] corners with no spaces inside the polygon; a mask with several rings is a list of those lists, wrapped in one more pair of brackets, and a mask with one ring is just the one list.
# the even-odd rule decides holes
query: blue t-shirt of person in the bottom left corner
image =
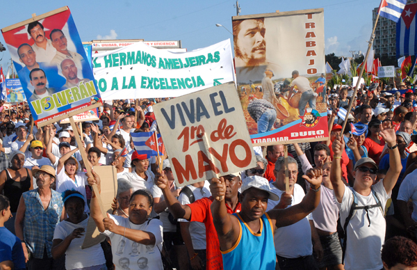
{"label": "blue t-shirt of person in the bottom left corner", "polygon": [[22,242],[9,230],[0,227],[0,262],[12,261],[15,270],[26,269]]}

